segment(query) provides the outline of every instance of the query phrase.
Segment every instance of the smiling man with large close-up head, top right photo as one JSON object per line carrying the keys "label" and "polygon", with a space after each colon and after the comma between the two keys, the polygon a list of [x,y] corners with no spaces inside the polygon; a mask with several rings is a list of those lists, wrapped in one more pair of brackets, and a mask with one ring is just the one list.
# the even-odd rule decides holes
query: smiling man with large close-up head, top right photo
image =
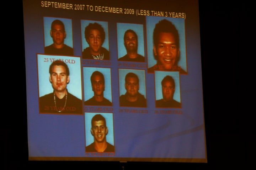
{"label": "smiling man with large close-up head, top right photo", "polygon": [[167,19],[159,21],[153,32],[153,52],[157,63],[148,68],[148,73],[154,70],[178,71],[180,74],[187,74],[178,66],[180,60],[180,40],[178,30]]}

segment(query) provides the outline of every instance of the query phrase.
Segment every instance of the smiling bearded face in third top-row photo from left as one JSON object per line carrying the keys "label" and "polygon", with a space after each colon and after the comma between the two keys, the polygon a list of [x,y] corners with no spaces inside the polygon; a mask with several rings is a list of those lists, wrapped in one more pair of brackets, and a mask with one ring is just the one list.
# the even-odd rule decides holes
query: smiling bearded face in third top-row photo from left
{"label": "smiling bearded face in third top-row photo from left", "polygon": [[133,33],[127,32],[124,35],[124,46],[126,47],[127,52],[137,52],[138,40]]}

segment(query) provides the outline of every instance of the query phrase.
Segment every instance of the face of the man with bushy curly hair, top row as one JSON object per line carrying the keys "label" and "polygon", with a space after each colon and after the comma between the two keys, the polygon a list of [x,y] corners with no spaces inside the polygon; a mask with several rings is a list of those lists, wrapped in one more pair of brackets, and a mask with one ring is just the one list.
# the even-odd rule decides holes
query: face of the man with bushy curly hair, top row
{"label": "face of the man with bushy curly hair, top row", "polygon": [[97,29],[91,29],[89,38],[86,39],[86,41],[89,44],[91,54],[99,55],[100,48],[103,44],[100,31]]}

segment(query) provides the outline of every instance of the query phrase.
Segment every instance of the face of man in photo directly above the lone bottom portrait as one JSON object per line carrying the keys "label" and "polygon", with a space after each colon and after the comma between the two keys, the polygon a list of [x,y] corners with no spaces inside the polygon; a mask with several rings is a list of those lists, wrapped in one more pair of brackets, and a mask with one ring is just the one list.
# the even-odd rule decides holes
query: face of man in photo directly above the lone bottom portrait
{"label": "face of man in photo directly above the lone bottom portrait", "polygon": [[94,92],[94,96],[103,96],[105,85],[103,83],[102,78],[99,75],[95,75],[92,78],[91,84],[92,84],[92,91]]}

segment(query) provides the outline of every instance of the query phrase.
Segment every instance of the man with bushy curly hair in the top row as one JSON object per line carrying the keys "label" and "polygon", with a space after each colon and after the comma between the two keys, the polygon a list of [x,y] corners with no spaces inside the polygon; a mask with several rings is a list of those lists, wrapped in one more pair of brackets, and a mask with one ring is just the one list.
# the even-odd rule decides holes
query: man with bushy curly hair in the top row
{"label": "man with bushy curly hair in the top row", "polygon": [[102,47],[105,41],[105,31],[98,23],[89,23],[85,28],[85,39],[89,47],[82,51],[83,59],[110,60],[110,53]]}

